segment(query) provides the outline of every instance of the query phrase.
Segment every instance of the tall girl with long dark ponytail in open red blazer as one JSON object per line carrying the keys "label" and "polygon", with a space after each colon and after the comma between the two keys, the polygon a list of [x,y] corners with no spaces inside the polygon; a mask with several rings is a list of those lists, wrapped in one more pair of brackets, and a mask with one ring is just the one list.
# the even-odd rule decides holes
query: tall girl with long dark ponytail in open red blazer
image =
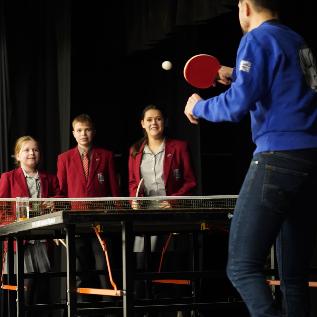
{"label": "tall girl with long dark ponytail in open red blazer", "polygon": [[[148,105],[143,110],[141,125],[144,136],[133,144],[129,156],[129,195],[131,197],[135,197],[141,178],[145,179],[142,196],[189,196],[195,192],[196,178],[188,143],[165,137],[164,130],[167,124],[168,119],[158,106]],[[132,202],[132,207],[137,208],[135,201]],[[168,201],[162,201],[160,207],[170,208],[171,204]],[[151,237],[154,271],[159,268],[159,260],[166,240],[167,236]],[[166,265],[164,267],[163,264],[162,270],[182,270],[182,265],[186,268],[189,253],[184,248],[185,244],[184,236],[172,237],[167,249],[172,252],[165,253],[163,262]],[[134,251],[137,268],[144,267],[143,249],[143,238],[136,237]],[[161,294],[165,298],[190,296],[190,289],[184,289],[184,286],[158,284],[160,285],[155,285],[154,294]],[[135,298],[142,298],[144,292],[142,282],[136,282],[135,288]],[[189,313],[183,312],[183,316],[189,316]],[[176,317],[177,312],[161,313],[161,316]]]}

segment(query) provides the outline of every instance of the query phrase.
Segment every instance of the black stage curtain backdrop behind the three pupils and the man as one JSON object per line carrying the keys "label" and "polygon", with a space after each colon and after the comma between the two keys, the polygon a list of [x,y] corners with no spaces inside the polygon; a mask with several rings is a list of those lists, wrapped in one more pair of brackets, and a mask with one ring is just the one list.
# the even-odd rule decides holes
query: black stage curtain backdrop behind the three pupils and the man
{"label": "black stage curtain backdrop behind the three pupils and the man", "polygon": [[[75,146],[71,120],[89,113],[97,127],[95,144],[116,154],[127,196],[128,150],[142,134],[140,113],[158,103],[170,119],[168,134],[190,143],[196,194],[238,194],[254,150],[249,116],[239,123],[190,124],[184,116],[188,97],[196,92],[209,98],[227,87],[196,89],[183,77],[186,61],[196,54],[235,65],[242,37],[236,4],[0,0],[1,172],[13,169],[14,142],[26,134],[41,143],[42,169],[56,172],[57,155]],[[285,1],[281,11],[282,23],[301,34],[315,56],[316,12],[315,0]],[[161,68],[166,60],[173,64],[169,71]],[[224,249],[215,252],[225,262]]]}

